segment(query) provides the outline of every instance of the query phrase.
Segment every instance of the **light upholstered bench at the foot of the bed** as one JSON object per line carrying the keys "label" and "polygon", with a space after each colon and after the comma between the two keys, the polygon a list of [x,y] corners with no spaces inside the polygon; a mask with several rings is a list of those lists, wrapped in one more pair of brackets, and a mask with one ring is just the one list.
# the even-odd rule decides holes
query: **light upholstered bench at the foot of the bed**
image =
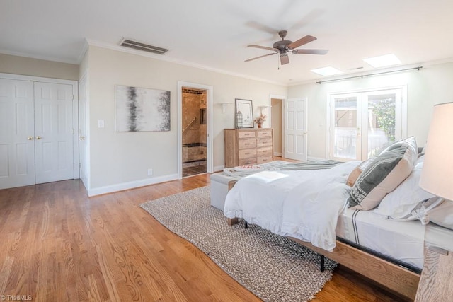
{"label": "light upholstered bench at the foot of the bed", "polygon": [[[224,210],[225,198],[228,191],[231,190],[231,187],[234,186],[234,183],[241,178],[251,175],[253,173],[258,173],[262,170],[274,170],[281,167],[282,165],[287,164],[287,161],[271,161],[270,163],[263,163],[260,165],[254,165],[253,167],[259,167],[260,169],[250,169],[250,170],[241,170],[237,173],[214,173],[211,174],[211,205],[217,209]],[[231,168],[230,170],[233,170]]]}

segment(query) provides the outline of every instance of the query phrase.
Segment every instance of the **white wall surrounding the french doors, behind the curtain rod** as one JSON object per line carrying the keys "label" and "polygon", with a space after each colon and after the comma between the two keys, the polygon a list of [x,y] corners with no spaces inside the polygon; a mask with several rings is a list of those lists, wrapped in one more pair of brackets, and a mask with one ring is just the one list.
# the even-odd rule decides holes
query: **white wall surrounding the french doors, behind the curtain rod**
{"label": "white wall surrounding the french doors, behind the curtain rod", "polygon": [[424,66],[420,71],[404,71],[363,79],[331,83],[308,83],[288,88],[288,98],[308,98],[308,149],[313,158],[327,158],[327,95],[338,91],[407,85],[408,136],[415,135],[419,146],[428,137],[432,107],[453,101],[453,63]]}

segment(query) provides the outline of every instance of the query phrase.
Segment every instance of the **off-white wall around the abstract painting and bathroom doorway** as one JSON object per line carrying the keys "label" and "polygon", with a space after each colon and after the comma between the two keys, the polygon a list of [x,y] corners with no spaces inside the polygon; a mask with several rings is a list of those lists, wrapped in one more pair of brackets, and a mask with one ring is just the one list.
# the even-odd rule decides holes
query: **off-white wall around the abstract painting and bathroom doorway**
{"label": "off-white wall around the abstract painting and bathroom doorway", "polygon": [[[90,46],[88,49],[90,170],[93,194],[177,178],[178,81],[214,87],[214,167],[224,164],[223,129],[234,127],[234,105],[222,114],[221,103],[234,98],[268,105],[269,95],[285,95],[285,86],[219,74],[126,52]],[[115,85],[155,88],[171,92],[171,131],[115,132]],[[98,128],[105,120],[105,128]],[[147,176],[152,168],[154,175]]]}

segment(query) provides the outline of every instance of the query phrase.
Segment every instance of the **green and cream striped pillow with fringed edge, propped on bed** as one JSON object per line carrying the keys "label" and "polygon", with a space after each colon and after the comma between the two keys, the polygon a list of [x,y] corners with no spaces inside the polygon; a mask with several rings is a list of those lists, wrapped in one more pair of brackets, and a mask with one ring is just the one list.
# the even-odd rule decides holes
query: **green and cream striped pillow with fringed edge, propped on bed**
{"label": "green and cream striped pillow with fringed edge, propped on bed", "polygon": [[350,209],[369,210],[377,207],[386,194],[411,174],[417,160],[416,150],[413,137],[407,142],[398,141],[375,158],[351,189],[348,198]]}

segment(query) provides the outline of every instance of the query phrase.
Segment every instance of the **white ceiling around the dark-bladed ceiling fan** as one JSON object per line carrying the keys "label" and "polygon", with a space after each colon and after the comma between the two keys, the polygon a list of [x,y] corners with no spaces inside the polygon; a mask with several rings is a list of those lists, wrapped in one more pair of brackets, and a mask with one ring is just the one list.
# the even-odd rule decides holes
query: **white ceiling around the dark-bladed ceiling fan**
{"label": "white ceiling around the dark-bladed ceiling fan", "polygon": [[[299,48],[326,55],[267,54],[313,35]],[[168,48],[174,62],[291,85],[320,79],[310,69],[372,70],[362,59],[393,52],[402,65],[453,61],[452,0],[2,0],[0,53],[79,64],[86,40],[117,47],[122,37]],[[1,64],[1,62],[0,62]]]}

